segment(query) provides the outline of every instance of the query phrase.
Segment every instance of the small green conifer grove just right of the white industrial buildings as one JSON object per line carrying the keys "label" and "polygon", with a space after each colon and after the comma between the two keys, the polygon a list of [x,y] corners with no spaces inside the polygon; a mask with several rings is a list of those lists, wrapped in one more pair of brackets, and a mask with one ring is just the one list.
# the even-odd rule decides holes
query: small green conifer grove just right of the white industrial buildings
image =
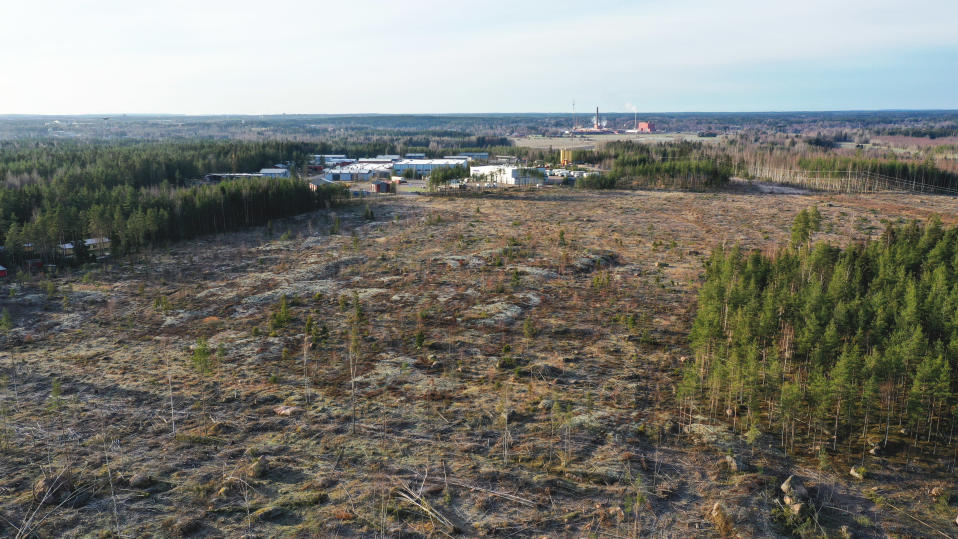
{"label": "small green conifer grove just right of the white industrial buildings", "polygon": [[[578,152],[573,152],[575,160]],[[607,164],[600,175],[580,178],[584,189],[706,189],[724,186],[732,175],[731,161],[706,151],[700,144],[637,144],[617,142],[604,150],[583,156],[589,162]]]}

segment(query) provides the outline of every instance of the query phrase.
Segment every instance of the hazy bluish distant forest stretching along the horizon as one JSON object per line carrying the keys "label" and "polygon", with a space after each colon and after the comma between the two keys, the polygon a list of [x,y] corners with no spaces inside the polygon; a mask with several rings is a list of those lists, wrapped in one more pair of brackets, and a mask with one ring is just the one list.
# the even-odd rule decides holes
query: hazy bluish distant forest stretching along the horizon
{"label": "hazy bluish distant forest stretching along the horizon", "polygon": [[[580,125],[591,112],[577,114]],[[800,134],[846,129],[869,134],[947,136],[958,111],[825,111],[647,113],[600,111],[612,129],[630,129],[635,120],[654,122],[665,132]],[[403,137],[558,135],[571,129],[572,111],[515,114],[343,114],[275,116],[0,116],[0,141],[58,137],[100,140],[303,140],[342,136]],[[950,131],[949,131],[950,130]],[[492,143],[492,145],[499,145]]]}

